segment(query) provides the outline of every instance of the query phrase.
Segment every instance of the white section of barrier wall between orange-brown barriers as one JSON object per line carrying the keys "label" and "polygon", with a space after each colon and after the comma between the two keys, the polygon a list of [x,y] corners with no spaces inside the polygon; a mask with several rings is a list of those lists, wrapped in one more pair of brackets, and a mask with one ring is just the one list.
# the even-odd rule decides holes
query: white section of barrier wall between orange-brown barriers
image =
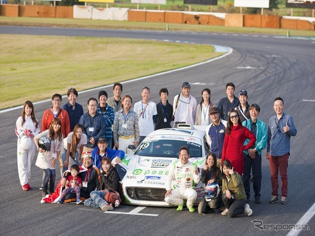
{"label": "white section of barrier wall between orange-brown barriers", "polygon": [[126,21],[128,19],[129,8],[96,8],[94,6],[73,6],[73,18],[107,20],[107,21]]}

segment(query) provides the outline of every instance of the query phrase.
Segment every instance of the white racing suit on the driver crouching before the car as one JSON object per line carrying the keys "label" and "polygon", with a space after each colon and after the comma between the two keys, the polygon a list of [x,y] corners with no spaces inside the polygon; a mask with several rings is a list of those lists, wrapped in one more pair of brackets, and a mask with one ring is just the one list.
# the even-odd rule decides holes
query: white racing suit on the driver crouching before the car
{"label": "white racing suit on the driver crouching before the car", "polygon": [[180,160],[173,163],[168,178],[166,179],[166,191],[172,190],[172,180],[175,179],[176,184],[173,186],[172,194],[165,198],[165,202],[170,205],[179,206],[183,203],[183,199],[187,200],[187,207],[192,207],[197,199],[197,192],[193,189],[194,183],[200,182],[199,174],[195,174],[197,165],[187,162],[183,165]]}

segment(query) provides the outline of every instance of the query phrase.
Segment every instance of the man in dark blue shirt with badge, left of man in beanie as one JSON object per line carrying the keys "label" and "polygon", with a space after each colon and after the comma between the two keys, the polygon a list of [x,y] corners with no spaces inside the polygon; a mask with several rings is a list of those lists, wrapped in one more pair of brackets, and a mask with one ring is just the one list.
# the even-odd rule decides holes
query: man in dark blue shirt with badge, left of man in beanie
{"label": "man in dark blue shirt with badge, left of man in beanie", "polygon": [[84,113],[79,123],[84,127],[84,134],[87,136],[88,143],[84,145],[83,151],[91,151],[97,147],[99,137],[104,136],[106,132],[105,120],[102,115],[96,113],[97,100],[91,97],[88,100],[88,112]]}

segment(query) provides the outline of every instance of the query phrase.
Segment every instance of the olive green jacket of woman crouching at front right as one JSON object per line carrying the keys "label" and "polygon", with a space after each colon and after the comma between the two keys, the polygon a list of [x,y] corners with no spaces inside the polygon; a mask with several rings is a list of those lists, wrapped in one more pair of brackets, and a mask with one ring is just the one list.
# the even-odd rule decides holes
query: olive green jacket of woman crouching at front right
{"label": "olive green jacket of woman crouching at front right", "polygon": [[234,172],[231,175],[231,180],[227,182],[227,178],[222,180],[222,194],[225,194],[226,189],[230,190],[235,200],[246,200],[245,188],[241,176]]}

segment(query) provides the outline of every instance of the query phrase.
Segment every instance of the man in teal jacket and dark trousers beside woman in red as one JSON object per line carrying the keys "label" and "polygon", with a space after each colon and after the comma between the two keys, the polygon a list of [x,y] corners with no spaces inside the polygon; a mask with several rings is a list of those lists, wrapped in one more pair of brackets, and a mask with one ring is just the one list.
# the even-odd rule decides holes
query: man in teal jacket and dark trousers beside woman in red
{"label": "man in teal jacket and dark trousers beside woman in red", "polygon": [[[261,150],[267,145],[267,127],[266,124],[258,119],[260,107],[257,104],[251,104],[249,107],[251,118],[243,121],[243,126],[246,126],[256,137],[255,146],[247,151],[244,151],[244,171],[243,183],[246,192],[246,202],[250,201],[250,178],[252,169],[252,180],[255,203],[260,201],[260,187],[261,187]],[[244,145],[248,144],[249,140],[245,140]]]}

